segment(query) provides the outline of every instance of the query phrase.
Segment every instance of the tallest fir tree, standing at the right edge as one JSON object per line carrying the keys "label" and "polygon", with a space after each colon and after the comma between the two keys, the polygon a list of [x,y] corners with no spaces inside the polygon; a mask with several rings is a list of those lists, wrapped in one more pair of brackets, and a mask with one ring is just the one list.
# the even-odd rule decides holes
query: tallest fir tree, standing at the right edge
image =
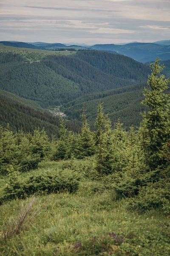
{"label": "tallest fir tree, standing at the right edge", "polygon": [[150,169],[166,164],[161,151],[164,143],[170,141],[170,94],[164,93],[169,80],[160,74],[164,65],[160,66],[159,61],[157,58],[155,63],[150,64],[152,73],[147,81],[150,89],[144,89],[145,99],[142,101],[149,109],[143,114],[140,130],[145,160]]}

